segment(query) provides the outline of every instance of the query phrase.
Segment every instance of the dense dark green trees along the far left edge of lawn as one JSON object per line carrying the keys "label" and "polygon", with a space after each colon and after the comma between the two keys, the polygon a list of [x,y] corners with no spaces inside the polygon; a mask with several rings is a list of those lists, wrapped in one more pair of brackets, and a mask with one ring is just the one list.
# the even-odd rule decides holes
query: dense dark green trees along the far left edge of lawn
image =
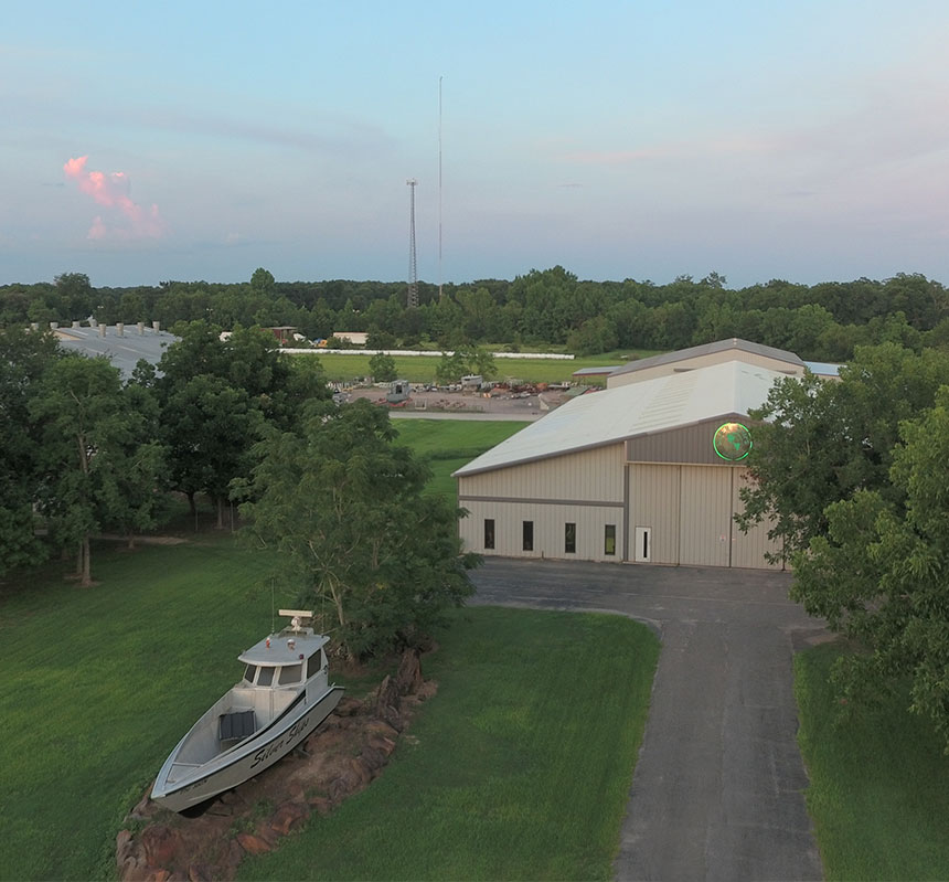
{"label": "dense dark green trees along the far left edge of lawn", "polygon": [[296,370],[259,329],[222,341],[195,322],[158,371],[139,362],[127,382],[49,331],[0,329],[0,577],[62,553],[90,584],[90,538],[152,530],[168,491],[192,511],[206,493],[223,525],[232,481],[253,471],[267,428],[294,431],[328,396],[318,365]]}

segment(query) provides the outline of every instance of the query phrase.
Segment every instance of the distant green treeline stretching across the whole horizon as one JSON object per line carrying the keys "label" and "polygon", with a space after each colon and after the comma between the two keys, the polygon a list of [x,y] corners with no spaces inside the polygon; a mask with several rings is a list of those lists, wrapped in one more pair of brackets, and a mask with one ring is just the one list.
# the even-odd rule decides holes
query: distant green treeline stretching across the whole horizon
{"label": "distant green treeline stretching across the whole horizon", "polygon": [[923,275],[797,285],[771,280],[728,288],[711,273],[651,281],[583,281],[563,267],[531,270],[512,281],[482,279],[438,288],[419,283],[419,307],[406,286],[382,281],[275,281],[257,269],[248,283],[162,281],[94,288],[68,273],[54,283],[0,287],[0,326],[98,321],[205,320],[294,326],[309,339],[366,331],[377,348],[492,343],[565,346],[577,354],[616,349],[681,349],[740,337],[802,358],[845,361],[854,348],[896,342],[913,350],[949,342],[949,294]]}

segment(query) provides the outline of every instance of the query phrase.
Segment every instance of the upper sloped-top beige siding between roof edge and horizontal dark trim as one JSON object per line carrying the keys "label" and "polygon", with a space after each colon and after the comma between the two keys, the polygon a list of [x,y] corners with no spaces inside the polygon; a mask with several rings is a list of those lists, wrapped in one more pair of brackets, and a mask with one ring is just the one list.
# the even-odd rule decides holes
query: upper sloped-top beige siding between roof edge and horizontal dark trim
{"label": "upper sloped-top beige siding between roof edge and horizontal dark trim", "polygon": [[459,497],[622,502],[621,442],[458,479]]}

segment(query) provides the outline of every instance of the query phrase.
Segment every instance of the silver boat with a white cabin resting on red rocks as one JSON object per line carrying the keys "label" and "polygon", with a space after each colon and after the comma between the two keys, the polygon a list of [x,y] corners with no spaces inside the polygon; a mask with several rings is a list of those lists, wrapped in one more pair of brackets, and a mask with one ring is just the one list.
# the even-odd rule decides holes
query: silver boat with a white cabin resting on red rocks
{"label": "silver boat with a white cabin resting on red rocks", "polygon": [[326,720],[343,695],[330,686],[326,645],[305,621],[313,614],[281,609],[289,626],[242,652],[244,677],[178,743],[151,790],[157,804],[184,811],[274,765]]}

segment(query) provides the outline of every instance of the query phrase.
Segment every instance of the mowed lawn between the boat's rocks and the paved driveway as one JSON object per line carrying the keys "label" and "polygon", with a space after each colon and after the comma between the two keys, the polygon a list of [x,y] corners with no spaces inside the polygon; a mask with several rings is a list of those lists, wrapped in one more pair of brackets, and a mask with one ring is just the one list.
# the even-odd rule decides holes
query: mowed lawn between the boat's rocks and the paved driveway
{"label": "mowed lawn between the boat's rocks and the paved driveway", "polygon": [[608,615],[455,618],[382,777],[239,878],[611,878],[658,639]]}

